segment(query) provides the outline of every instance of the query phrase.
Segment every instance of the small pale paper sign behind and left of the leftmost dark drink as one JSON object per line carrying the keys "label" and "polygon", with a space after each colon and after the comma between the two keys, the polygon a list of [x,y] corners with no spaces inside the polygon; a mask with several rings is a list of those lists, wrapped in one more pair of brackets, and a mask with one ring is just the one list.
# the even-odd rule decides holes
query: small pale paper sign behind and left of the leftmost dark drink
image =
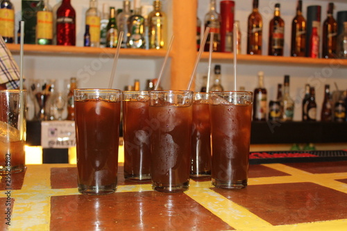
{"label": "small pale paper sign behind and left of the leftmost dark drink", "polygon": [[69,148],[76,146],[74,121],[42,121],[42,148]]}

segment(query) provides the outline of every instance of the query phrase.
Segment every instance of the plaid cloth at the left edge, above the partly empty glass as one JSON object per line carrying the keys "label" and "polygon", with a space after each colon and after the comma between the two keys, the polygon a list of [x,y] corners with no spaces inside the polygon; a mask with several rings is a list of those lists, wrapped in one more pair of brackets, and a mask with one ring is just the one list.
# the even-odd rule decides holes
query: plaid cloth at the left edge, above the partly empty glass
{"label": "plaid cloth at the left edge, above the partly empty glass", "polygon": [[7,89],[19,87],[19,68],[0,35],[0,84],[6,83]]}

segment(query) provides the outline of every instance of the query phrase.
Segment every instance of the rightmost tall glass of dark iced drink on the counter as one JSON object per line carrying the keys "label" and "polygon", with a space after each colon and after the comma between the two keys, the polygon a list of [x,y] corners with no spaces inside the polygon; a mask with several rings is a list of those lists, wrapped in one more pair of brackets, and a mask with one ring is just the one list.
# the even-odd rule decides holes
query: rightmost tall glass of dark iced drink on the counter
{"label": "rightmost tall glass of dark iced drink on the counter", "polygon": [[212,185],[247,186],[252,92],[210,92]]}

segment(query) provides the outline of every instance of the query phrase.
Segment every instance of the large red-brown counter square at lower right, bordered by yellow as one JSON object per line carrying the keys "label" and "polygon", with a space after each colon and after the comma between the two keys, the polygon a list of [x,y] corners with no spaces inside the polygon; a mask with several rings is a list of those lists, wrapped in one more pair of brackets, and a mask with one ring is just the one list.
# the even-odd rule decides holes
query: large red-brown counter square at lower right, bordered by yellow
{"label": "large red-brown counter square at lower right, bordered by yellow", "polygon": [[212,189],[272,225],[347,219],[347,194],[311,182]]}

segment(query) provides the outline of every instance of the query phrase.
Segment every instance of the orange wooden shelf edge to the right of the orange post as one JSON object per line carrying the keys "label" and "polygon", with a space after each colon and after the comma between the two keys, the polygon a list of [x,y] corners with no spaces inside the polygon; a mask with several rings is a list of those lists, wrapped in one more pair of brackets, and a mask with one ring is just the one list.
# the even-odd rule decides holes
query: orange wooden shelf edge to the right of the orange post
{"label": "orange wooden shelf edge to the right of the orange post", "polygon": [[[209,53],[204,52],[201,55],[202,60],[208,60]],[[212,59],[219,62],[232,62],[234,58],[232,53],[212,53]],[[262,63],[268,65],[288,65],[288,66],[334,66],[347,67],[347,59],[325,59],[325,58],[306,58],[306,57],[284,57],[284,56],[267,56],[267,55],[237,55],[239,63]]]}

